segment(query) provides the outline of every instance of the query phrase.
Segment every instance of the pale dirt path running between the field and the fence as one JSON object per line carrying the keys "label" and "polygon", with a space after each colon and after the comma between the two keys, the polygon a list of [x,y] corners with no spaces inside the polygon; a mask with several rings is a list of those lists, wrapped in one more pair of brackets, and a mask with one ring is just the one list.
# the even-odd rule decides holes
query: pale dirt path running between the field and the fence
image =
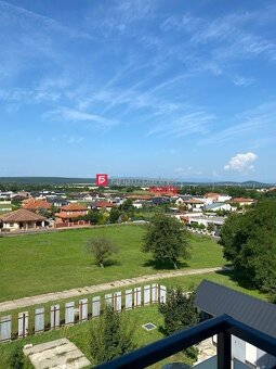
{"label": "pale dirt path running between the field and the fence", "polygon": [[216,268],[201,268],[201,269],[188,269],[188,270],[174,270],[174,271],[167,271],[160,272],[156,275],[148,275],[148,276],[141,276],[135,278],[129,279],[121,279],[119,281],[108,282],[108,283],[101,283],[90,287],[83,287],[79,289],[71,289],[62,292],[51,292],[42,295],[31,296],[31,297],[24,297],[18,300],[6,301],[0,303],[0,313],[9,311],[30,305],[38,305],[38,304],[45,304],[52,301],[63,300],[63,298],[70,298],[76,296],[82,296],[91,293],[96,293],[101,291],[108,291],[111,289],[123,288],[127,285],[152,282],[158,279],[163,278],[173,278],[180,276],[194,276],[194,275],[203,275],[207,272],[214,272],[219,270],[225,270],[223,267]]}

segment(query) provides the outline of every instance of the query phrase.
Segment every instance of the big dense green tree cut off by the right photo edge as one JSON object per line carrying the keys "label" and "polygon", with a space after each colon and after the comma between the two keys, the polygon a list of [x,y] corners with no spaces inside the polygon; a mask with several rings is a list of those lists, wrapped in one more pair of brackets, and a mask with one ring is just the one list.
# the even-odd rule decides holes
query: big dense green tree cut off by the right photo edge
{"label": "big dense green tree cut off by the right photo edge", "polygon": [[276,203],[264,201],[245,214],[231,215],[222,227],[224,256],[251,287],[276,301]]}

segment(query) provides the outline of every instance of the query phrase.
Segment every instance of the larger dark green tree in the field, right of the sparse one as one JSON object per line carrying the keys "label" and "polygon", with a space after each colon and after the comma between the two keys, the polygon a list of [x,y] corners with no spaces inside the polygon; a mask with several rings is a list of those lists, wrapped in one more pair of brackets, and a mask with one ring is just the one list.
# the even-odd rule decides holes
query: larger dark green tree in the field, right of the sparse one
{"label": "larger dark green tree in the field, right of the sparse one", "polygon": [[188,234],[183,225],[165,214],[156,214],[143,239],[144,252],[152,252],[157,262],[170,263],[178,269],[179,258],[188,257]]}

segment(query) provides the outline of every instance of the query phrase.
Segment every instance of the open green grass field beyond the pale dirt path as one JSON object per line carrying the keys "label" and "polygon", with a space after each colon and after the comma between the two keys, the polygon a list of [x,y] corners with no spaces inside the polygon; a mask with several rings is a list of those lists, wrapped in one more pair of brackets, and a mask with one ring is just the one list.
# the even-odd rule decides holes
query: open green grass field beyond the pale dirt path
{"label": "open green grass field beyond the pale dirt path", "polygon": [[[118,226],[0,238],[0,302],[168,270],[142,253],[144,232],[143,226]],[[104,269],[86,250],[87,241],[100,234],[119,246]],[[212,239],[190,236],[190,245],[192,257],[181,260],[181,268],[225,264]]]}

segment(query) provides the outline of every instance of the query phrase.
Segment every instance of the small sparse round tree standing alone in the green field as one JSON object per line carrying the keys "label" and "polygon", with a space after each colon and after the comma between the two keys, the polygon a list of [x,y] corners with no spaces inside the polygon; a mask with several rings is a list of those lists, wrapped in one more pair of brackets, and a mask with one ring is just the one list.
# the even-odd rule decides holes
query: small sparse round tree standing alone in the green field
{"label": "small sparse round tree standing alone in the green field", "polygon": [[94,255],[96,264],[102,268],[104,268],[108,257],[118,253],[117,245],[104,236],[89,240],[87,250]]}

